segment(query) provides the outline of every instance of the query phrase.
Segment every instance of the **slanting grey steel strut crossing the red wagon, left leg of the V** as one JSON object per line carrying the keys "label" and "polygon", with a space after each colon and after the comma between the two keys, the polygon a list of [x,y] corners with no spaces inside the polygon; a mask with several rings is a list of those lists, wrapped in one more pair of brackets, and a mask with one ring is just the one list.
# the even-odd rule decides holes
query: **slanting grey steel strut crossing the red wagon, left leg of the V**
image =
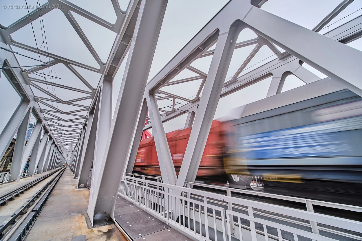
{"label": "slanting grey steel strut crossing the red wagon, left leg of the V", "polygon": [[152,134],[155,140],[157,158],[160,164],[162,182],[175,185],[177,175],[168,146],[165,129],[163,128],[155,94],[147,98],[148,113],[150,114]]}

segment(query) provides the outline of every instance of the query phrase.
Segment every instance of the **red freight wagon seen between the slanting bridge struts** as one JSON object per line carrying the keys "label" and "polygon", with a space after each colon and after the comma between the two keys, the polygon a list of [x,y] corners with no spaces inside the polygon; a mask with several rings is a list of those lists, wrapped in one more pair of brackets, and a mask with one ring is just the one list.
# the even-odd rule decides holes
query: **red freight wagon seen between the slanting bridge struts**
{"label": "red freight wagon seen between the slanting bridge struts", "polygon": [[[166,134],[177,175],[181,168],[191,129],[192,127]],[[211,124],[209,137],[207,138],[205,150],[197,172],[199,179],[213,177],[211,179],[212,181],[217,182],[218,180],[216,179],[220,179],[220,181],[226,182],[223,163],[225,148],[223,133],[222,122],[214,120]],[[153,137],[140,141],[133,172],[161,176]]]}

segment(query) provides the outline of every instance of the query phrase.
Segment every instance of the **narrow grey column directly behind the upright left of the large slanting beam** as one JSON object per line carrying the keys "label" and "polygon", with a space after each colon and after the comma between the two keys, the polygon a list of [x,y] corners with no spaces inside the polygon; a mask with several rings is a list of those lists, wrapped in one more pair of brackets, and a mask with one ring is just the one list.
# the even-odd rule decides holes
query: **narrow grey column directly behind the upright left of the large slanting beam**
{"label": "narrow grey column directly behind the upright left of the large slanting beam", "polygon": [[[81,164],[79,177],[78,177],[78,187],[84,185],[87,187],[87,181],[89,177],[90,168],[92,167],[93,157],[94,157],[94,145],[96,143],[96,132],[97,132],[97,120],[98,120],[98,109],[99,109],[99,96],[96,102],[96,107],[94,113],[92,113],[92,121],[88,123],[90,125],[89,138],[87,143],[87,148],[84,150],[83,163]],[[89,113],[91,115],[91,113]],[[88,119],[89,121],[89,119]]]}

